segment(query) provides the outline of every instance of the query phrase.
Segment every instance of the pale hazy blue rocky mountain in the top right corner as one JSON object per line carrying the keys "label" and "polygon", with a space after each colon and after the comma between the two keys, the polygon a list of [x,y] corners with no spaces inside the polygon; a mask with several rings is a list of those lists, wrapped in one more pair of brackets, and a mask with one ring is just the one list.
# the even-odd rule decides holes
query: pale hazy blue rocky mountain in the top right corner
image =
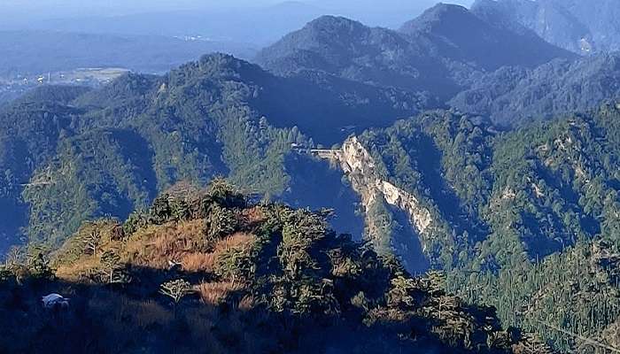
{"label": "pale hazy blue rocky mountain in the top right corner", "polygon": [[620,6],[578,0],[477,0],[471,11],[530,28],[547,42],[579,54],[620,50]]}

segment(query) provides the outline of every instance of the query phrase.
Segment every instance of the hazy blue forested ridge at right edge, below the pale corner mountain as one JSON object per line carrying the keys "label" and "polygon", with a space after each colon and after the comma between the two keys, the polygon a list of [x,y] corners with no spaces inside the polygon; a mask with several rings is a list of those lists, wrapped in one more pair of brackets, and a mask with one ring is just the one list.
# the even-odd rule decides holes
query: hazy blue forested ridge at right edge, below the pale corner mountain
{"label": "hazy blue forested ridge at right edge, below the pale corner mountain", "polygon": [[506,67],[482,76],[450,104],[511,126],[531,119],[586,112],[620,97],[620,56],[554,60],[533,70]]}

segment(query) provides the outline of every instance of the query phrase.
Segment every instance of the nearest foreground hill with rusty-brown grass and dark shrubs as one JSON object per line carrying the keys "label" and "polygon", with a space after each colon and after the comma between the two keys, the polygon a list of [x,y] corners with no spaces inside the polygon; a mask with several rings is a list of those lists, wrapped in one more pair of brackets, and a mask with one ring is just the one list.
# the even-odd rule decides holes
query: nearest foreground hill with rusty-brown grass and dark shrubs
{"label": "nearest foreground hill with rusty-brown grass and dark shrubs", "polygon": [[[329,212],[175,186],[0,267],[0,351],[551,353],[491,307],[330,230]],[[41,307],[41,294],[70,296]]]}

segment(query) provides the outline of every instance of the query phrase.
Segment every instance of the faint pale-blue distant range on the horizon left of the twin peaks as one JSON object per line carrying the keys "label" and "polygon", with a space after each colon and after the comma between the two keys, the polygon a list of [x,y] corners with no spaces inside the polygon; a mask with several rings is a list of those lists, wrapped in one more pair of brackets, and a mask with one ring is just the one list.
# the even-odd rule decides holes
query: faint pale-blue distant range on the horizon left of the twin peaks
{"label": "faint pale-blue distant range on the horizon left of the twin peaks", "polygon": [[20,27],[90,34],[167,37],[200,35],[215,42],[251,43],[252,46],[260,48],[325,11],[319,6],[294,1],[229,9],[226,6],[217,8],[205,4],[193,11],[147,11],[110,16],[98,14],[68,19],[45,19]]}

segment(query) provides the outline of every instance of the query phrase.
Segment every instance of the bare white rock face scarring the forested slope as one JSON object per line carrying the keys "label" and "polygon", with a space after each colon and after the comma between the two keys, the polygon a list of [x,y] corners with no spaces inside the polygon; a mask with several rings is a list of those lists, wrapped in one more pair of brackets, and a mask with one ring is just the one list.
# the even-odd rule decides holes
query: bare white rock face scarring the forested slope
{"label": "bare white rock face scarring the forested slope", "polygon": [[377,196],[383,196],[388,204],[407,212],[418,235],[427,234],[433,223],[429,210],[412,194],[379,178],[374,159],[357,137],[347,139],[340,150],[317,150],[316,154],[340,165],[367,211]]}

